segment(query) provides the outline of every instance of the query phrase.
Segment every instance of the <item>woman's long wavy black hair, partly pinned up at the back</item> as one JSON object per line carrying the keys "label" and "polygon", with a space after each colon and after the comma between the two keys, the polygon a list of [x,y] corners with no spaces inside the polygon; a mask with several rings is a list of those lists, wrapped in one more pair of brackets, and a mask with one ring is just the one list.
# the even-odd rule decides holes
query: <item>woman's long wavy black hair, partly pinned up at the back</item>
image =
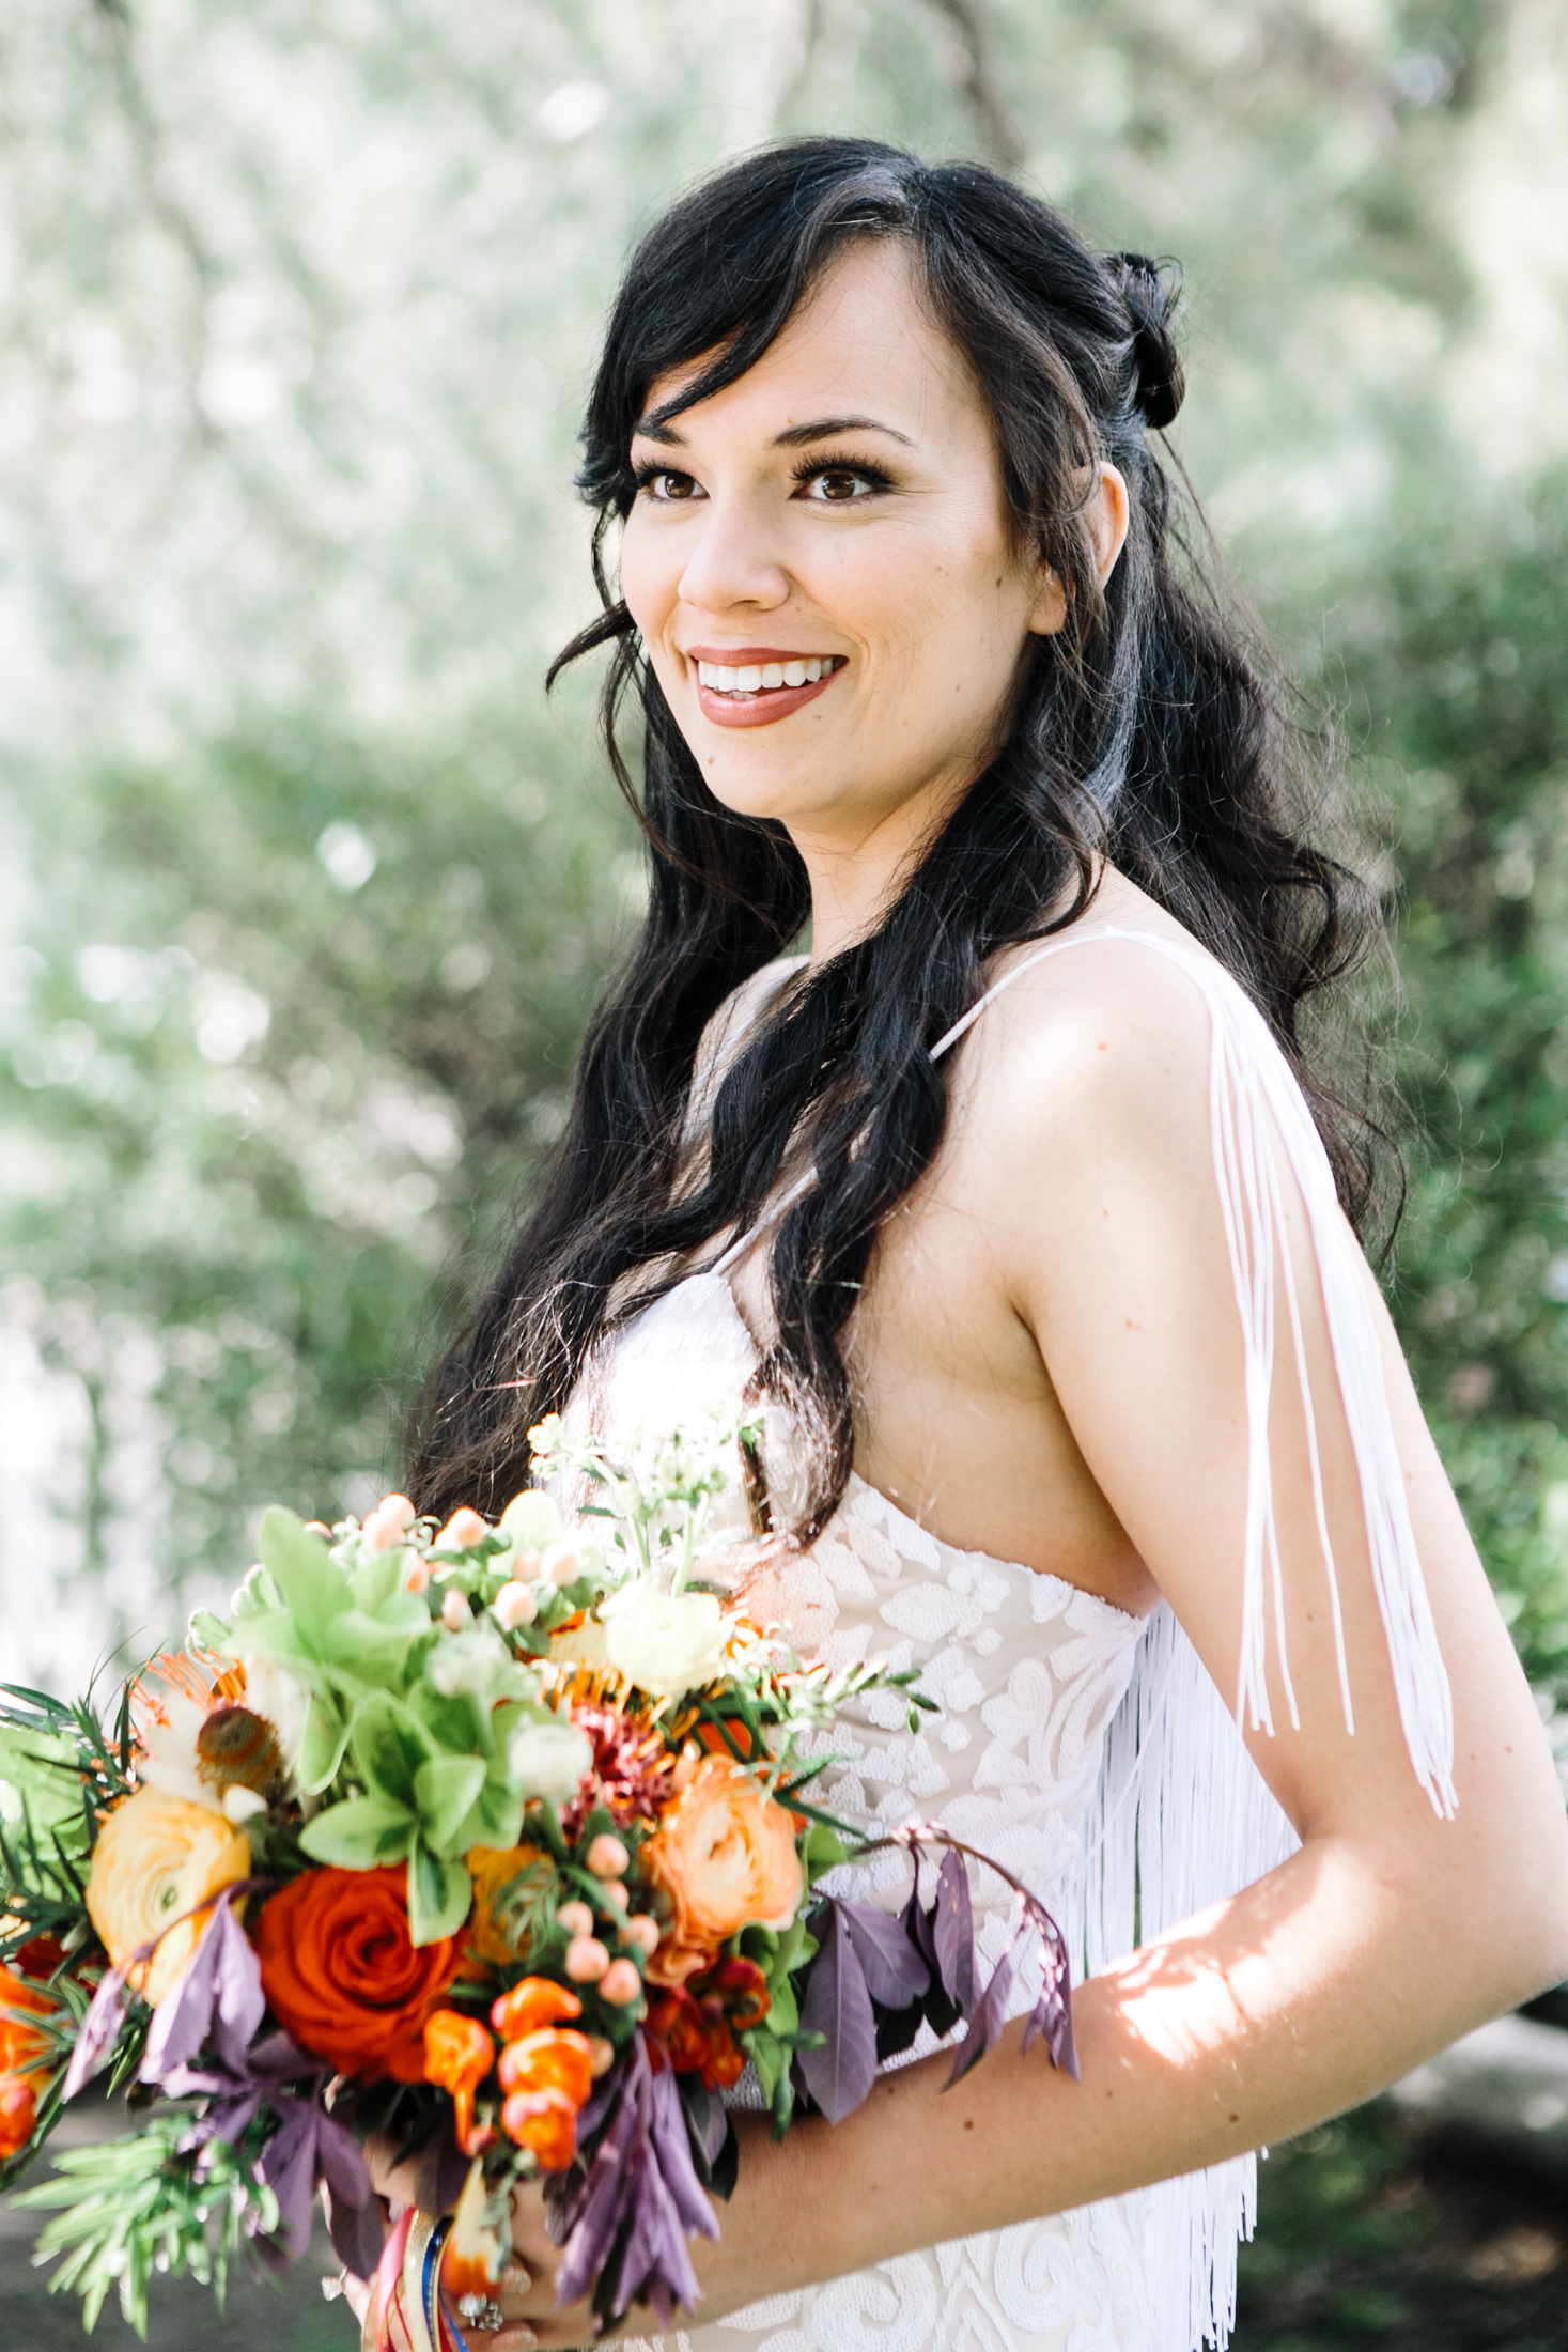
{"label": "woman's long wavy black hair, partly pinned up at the back", "polygon": [[[1058,635],[1030,635],[1011,727],[882,927],[813,969],[729,1068],[705,1164],[684,1174],[703,1030],[809,915],[783,826],[703,783],[604,562],[635,496],[628,459],[649,388],[708,360],[658,419],[733,383],[832,259],[898,240],[992,412],[1011,532],[1067,590]],[[870,139],[799,139],[705,181],[639,242],[616,296],[583,430],[602,616],[557,659],[611,647],[602,720],[637,809],[649,910],[583,1044],[571,1122],[501,1277],[433,1374],[411,1494],[425,1510],[501,1508],[529,1482],[527,1428],[569,1397],[595,1343],[715,1237],[750,1225],[785,1155],[816,1171],[771,1242],[776,1338],[759,1388],[809,1437],[790,1529],[832,1515],[853,1458],[842,1355],[877,1228],[943,1138],[950,1063],[931,1044],[1001,948],[1084,913],[1095,856],[1204,943],[1291,1058],[1359,1223],[1368,1127],[1312,1068],[1302,1002],[1368,941],[1375,910],[1302,837],[1309,760],[1279,696],[1180,534],[1182,482],[1152,433],[1182,397],[1171,289],[1143,254],[1095,254],[1048,205],[973,162],[926,165]],[[1126,475],[1131,529],[1100,593],[1084,468]],[[1190,510],[1190,508],[1187,508]],[[642,786],[618,748],[642,710]],[[1312,795],[1307,795],[1312,797]],[[642,1279],[639,1277],[642,1272]]]}

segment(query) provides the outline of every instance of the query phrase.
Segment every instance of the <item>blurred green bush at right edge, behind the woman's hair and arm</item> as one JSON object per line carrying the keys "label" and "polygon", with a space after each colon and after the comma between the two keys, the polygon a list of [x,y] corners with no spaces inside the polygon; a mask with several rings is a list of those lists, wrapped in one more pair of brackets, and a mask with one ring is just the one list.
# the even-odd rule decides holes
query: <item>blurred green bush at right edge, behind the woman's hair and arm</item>
{"label": "blurred green bush at right edge, behind the woman's hair and arm", "polygon": [[1347,600],[1368,774],[1394,818],[1394,1305],[1533,1679],[1568,1677],[1568,480],[1401,541]]}

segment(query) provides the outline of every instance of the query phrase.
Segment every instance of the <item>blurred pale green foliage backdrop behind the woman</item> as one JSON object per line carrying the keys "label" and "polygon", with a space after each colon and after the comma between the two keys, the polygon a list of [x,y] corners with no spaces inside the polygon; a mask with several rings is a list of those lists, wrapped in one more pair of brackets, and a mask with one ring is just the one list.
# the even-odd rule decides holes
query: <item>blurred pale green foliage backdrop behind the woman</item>
{"label": "blurred pale green foliage backdrop behind the woman", "polygon": [[1568,66],[1544,0],[9,0],[0,1665],[174,1630],[395,1468],[635,913],[576,407],[618,259],[790,127],[1187,268],[1180,452],[1401,917],[1394,1301],[1568,1675]]}

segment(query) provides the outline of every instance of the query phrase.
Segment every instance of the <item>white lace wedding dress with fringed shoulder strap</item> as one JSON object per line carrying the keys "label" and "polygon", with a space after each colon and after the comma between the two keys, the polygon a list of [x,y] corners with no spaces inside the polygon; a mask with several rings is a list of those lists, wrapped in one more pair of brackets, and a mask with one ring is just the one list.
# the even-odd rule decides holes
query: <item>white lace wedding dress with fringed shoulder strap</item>
{"label": "white lace wedding dress with fringed shoulder strap", "polygon": [[[1295,1327],[1288,1263],[1274,1247],[1281,1211],[1272,1131],[1307,1200],[1316,1242],[1410,1759],[1434,1804],[1448,1811],[1448,1684],[1403,1517],[1403,1477],[1356,1251],[1300,1089],[1241,990],[1197,950],[1157,934],[1070,934],[1016,964],[1001,985],[1081,936],[1154,948],[1192,976],[1211,1009],[1215,1181],[1232,1232],[1253,1430],[1248,1545],[1232,1571],[1244,1581],[1244,1644],[1251,1642],[1237,1712],[1246,1705],[1267,1719],[1260,1644],[1272,1550],[1267,1378],[1276,1279]],[[938,1051],[957,1042],[992,995]],[[757,1350],[719,1268],[677,1284],[616,1334],[571,1399],[576,1425],[625,1439],[635,1430],[693,1425],[708,1411],[724,1418],[741,1411]],[[1305,1390],[1300,1355],[1298,1374]],[[790,1430],[778,1414],[769,1416],[764,1458],[769,1489],[788,1498]],[[738,1491],[729,1510],[731,1524],[745,1529]],[[755,1616],[778,1621],[806,1656],[832,1665],[877,1656],[919,1668],[922,1689],[940,1712],[910,1733],[905,1710],[889,1693],[872,1693],[853,1719],[820,1736],[820,1752],[842,1757],[818,1783],[820,1802],[872,1832],[933,1818],[994,1853],[1063,1924],[1074,1980],[1128,1952],[1135,1919],[1147,1940],[1251,1884],[1295,1846],[1237,1719],[1164,1604],[1138,1621],[1056,1576],[938,1543],[860,1477],[849,1479],[811,1550],[788,1557],[748,1599]],[[907,1858],[893,1851],[835,1872],[827,1886],[898,1910],[907,1872]],[[1011,1896],[976,1865],[971,1891],[980,1952],[990,1959],[1006,1936]],[[1023,1985],[1018,2006],[1027,2006]],[[931,2046],[926,2034],[912,2056]],[[1044,2053],[1032,2063],[1044,2065]],[[1255,2161],[1237,2157],[1152,2190],[898,2256],[637,2345],[639,2352],[1194,2352],[1208,2338],[1222,2347],[1234,2321],[1237,2239],[1251,2234],[1253,2197]]]}

